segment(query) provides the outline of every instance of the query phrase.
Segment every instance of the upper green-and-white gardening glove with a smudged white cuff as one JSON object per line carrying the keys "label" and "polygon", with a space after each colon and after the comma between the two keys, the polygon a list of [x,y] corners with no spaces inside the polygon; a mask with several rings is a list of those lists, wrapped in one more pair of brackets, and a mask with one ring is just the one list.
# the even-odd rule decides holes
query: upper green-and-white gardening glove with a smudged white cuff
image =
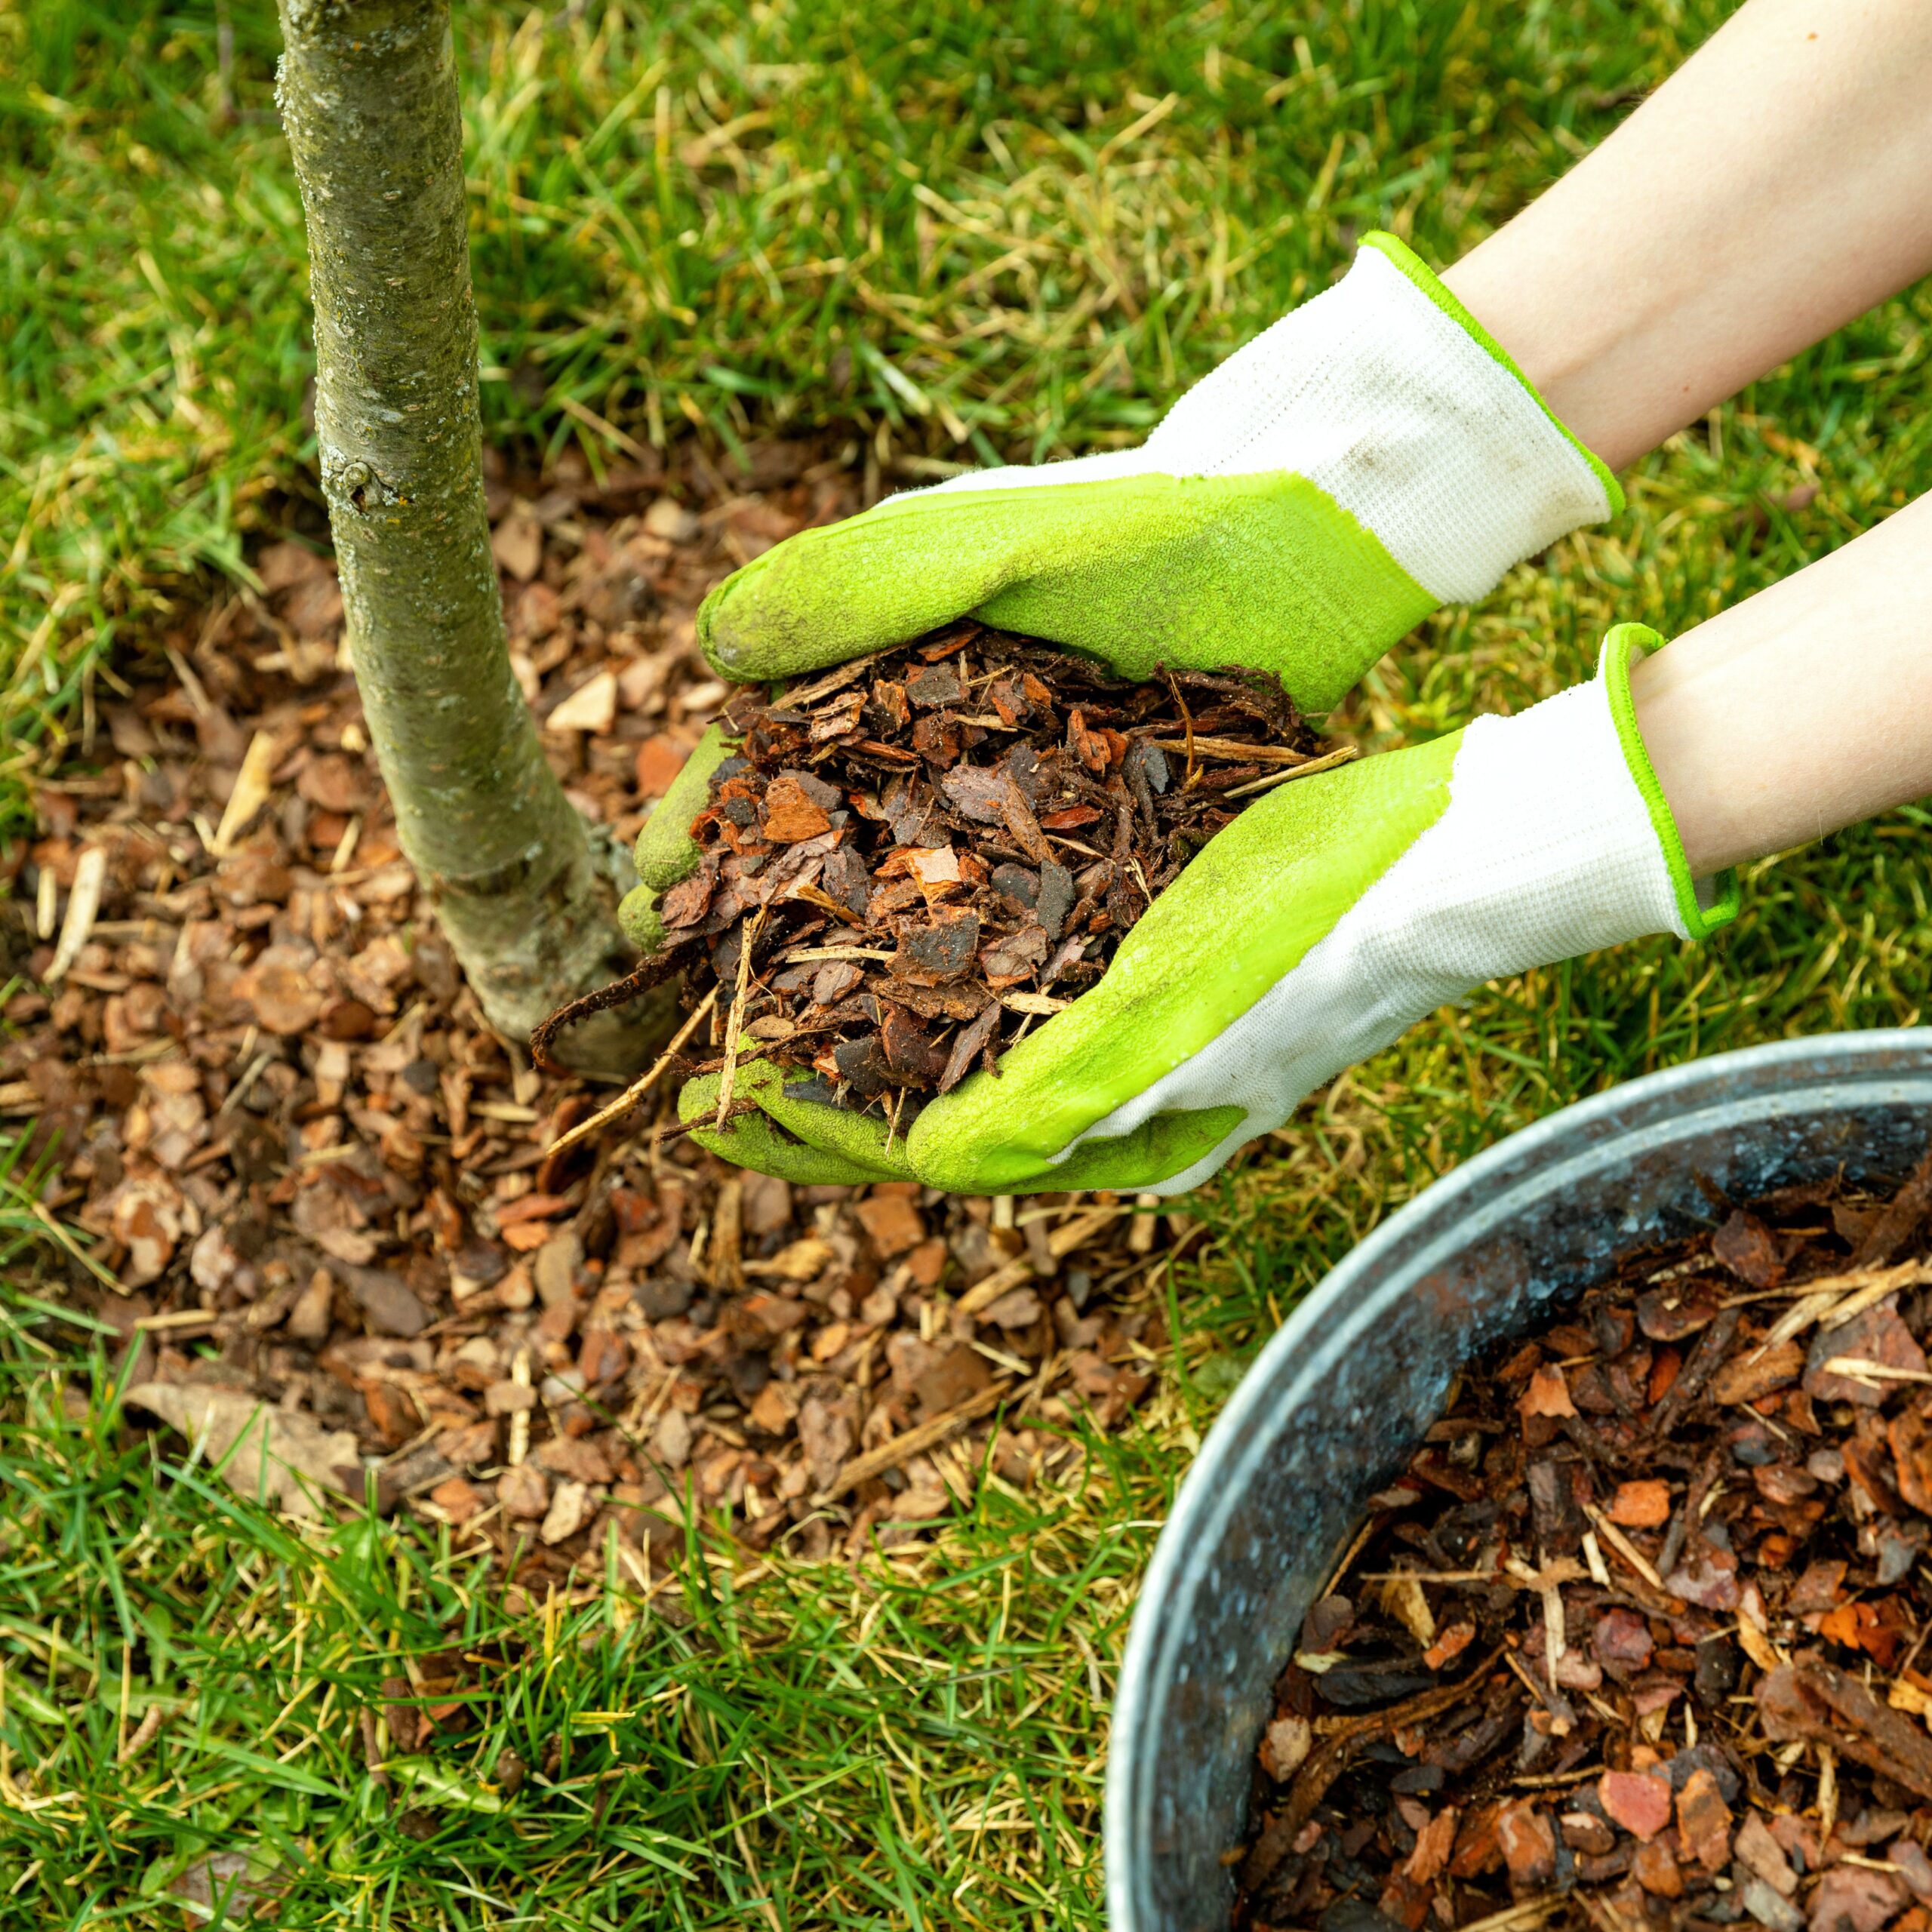
{"label": "upper green-and-white gardening glove with a smudged white cuff", "polygon": [[1621,508],[1482,325],[1374,234],[1138,450],[800,531],[705,599],[697,638],[723,676],[769,680],[972,614],[1132,678],[1273,670],[1320,713],[1435,605]]}

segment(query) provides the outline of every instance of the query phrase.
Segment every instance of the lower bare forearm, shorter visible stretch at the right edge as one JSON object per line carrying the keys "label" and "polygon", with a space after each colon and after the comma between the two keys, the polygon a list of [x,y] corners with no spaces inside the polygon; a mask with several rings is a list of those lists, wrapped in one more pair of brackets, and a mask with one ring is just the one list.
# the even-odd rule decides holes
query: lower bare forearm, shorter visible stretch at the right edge
{"label": "lower bare forearm, shorter visible stretch at the right edge", "polygon": [[1932,796],[1932,497],[1631,674],[1694,875]]}

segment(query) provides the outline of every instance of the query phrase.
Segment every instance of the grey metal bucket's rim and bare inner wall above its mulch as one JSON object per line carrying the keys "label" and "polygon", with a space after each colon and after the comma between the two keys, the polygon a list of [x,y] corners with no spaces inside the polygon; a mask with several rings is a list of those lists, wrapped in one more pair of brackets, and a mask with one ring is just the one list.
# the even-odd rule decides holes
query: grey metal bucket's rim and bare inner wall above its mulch
{"label": "grey metal bucket's rim and bare inner wall above its mulch", "polygon": [[1785,1039],[1633,1080],[1513,1134],[1391,1215],[1294,1310],[1155,1546],[1107,1768],[1113,1932],[1221,1932],[1273,1683],[1366,1499],[1470,1354],[1625,1248],[1932,1140],[1932,1030]]}

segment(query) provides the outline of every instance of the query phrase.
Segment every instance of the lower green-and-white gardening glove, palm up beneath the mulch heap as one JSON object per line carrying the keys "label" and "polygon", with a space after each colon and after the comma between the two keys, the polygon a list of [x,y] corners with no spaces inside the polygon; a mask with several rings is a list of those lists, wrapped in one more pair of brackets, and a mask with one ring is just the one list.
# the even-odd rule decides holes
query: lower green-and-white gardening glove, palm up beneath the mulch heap
{"label": "lower green-and-white gardening glove, palm up beneath the mulch heap", "polygon": [[[1706,937],[1737,887],[1692,883],[1636,730],[1629,667],[1658,641],[1619,624],[1592,684],[1279,786],[1153,902],[1094,991],[896,1144],[767,1065],[738,1072],[763,1113],[696,1138],[794,1179],[1177,1194],[1486,980],[1642,933]],[[680,1095],[686,1121],[715,1105],[717,1076]]]}

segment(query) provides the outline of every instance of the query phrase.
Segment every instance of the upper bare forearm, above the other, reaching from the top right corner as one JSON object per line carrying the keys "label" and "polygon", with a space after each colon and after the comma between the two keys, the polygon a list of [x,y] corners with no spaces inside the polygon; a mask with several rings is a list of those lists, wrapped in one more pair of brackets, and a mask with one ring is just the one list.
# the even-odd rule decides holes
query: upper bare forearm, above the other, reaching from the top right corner
{"label": "upper bare forearm, above the other, reaching from the top right corner", "polygon": [[1611,468],[1932,270],[1932,6],[1750,0],[1443,280]]}

